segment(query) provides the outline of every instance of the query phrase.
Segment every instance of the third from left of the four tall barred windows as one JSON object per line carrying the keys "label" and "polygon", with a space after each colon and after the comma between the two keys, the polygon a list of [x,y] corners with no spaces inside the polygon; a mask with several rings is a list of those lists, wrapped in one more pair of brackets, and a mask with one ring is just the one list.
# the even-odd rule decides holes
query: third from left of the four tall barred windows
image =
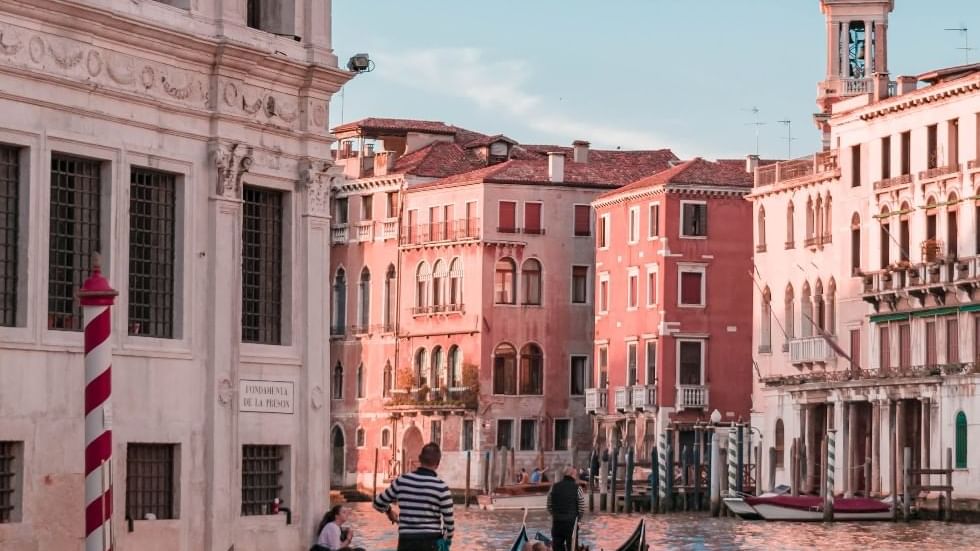
{"label": "third from left of the four tall barred windows", "polygon": [[177,178],[134,168],[129,182],[129,334],[174,336]]}

